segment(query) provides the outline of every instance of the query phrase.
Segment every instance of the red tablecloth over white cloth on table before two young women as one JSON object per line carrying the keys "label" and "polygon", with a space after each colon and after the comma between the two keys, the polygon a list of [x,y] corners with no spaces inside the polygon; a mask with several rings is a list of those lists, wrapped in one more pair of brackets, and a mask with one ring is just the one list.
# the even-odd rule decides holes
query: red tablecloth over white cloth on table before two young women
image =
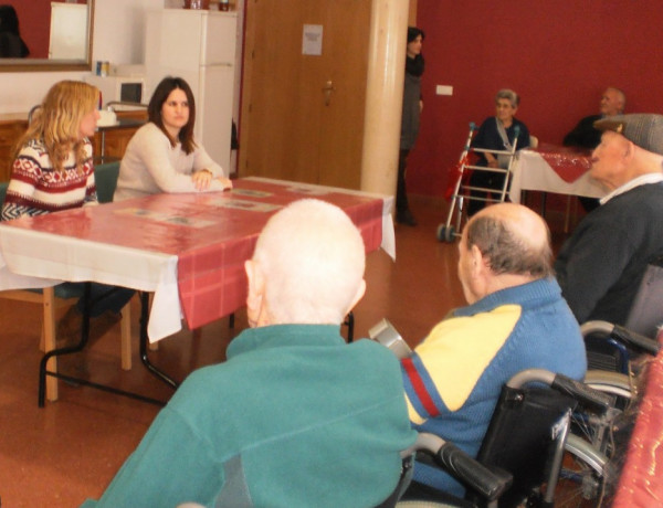
{"label": "red tablecloth over white cloth on table before two young women", "polygon": [[[76,264],[72,239],[108,245],[108,248],[120,246],[176,255],[179,298],[190,328],[211,322],[244,305],[244,261],[251,257],[267,219],[292,201],[317,198],[340,207],[361,231],[367,252],[380,246],[385,200],[379,197],[260,179],[240,179],[234,184],[232,192],[155,194],[20,219],[6,225],[30,233],[53,233],[55,241],[62,237],[63,243],[67,243],[67,255],[72,253],[67,262],[72,265]],[[59,244],[51,245],[57,248]],[[35,253],[34,260],[48,263],[49,253]],[[122,272],[122,268],[113,269]],[[43,273],[23,275],[48,276]]]}

